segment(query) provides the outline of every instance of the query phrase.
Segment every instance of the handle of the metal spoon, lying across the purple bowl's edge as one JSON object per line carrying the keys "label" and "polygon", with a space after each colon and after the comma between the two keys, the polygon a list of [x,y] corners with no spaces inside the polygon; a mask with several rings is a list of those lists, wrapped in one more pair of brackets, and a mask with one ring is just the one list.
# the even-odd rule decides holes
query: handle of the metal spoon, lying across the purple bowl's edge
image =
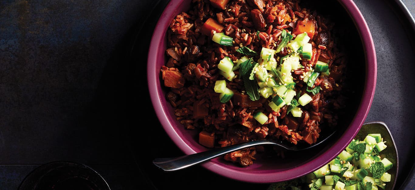
{"label": "handle of the metal spoon, lying across the purple bowl's edge", "polygon": [[261,145],[261,144],[275,144],[270,140],[257,140],[249,141],[241,144],[235,144],[232,146],[225,146],[217,149],[212,149],[209,151],[203,151],[199,153],[189,154],[185,156],[179,156],[176,158],[156,158],[154,159],[154,165],[163,169],[164,171],[176,171],[190,166],[194,166],[203,161],[207,161],[218,156],[224,155],[226,153],[238,151],[240,149],[245,149],[251,146]]}

